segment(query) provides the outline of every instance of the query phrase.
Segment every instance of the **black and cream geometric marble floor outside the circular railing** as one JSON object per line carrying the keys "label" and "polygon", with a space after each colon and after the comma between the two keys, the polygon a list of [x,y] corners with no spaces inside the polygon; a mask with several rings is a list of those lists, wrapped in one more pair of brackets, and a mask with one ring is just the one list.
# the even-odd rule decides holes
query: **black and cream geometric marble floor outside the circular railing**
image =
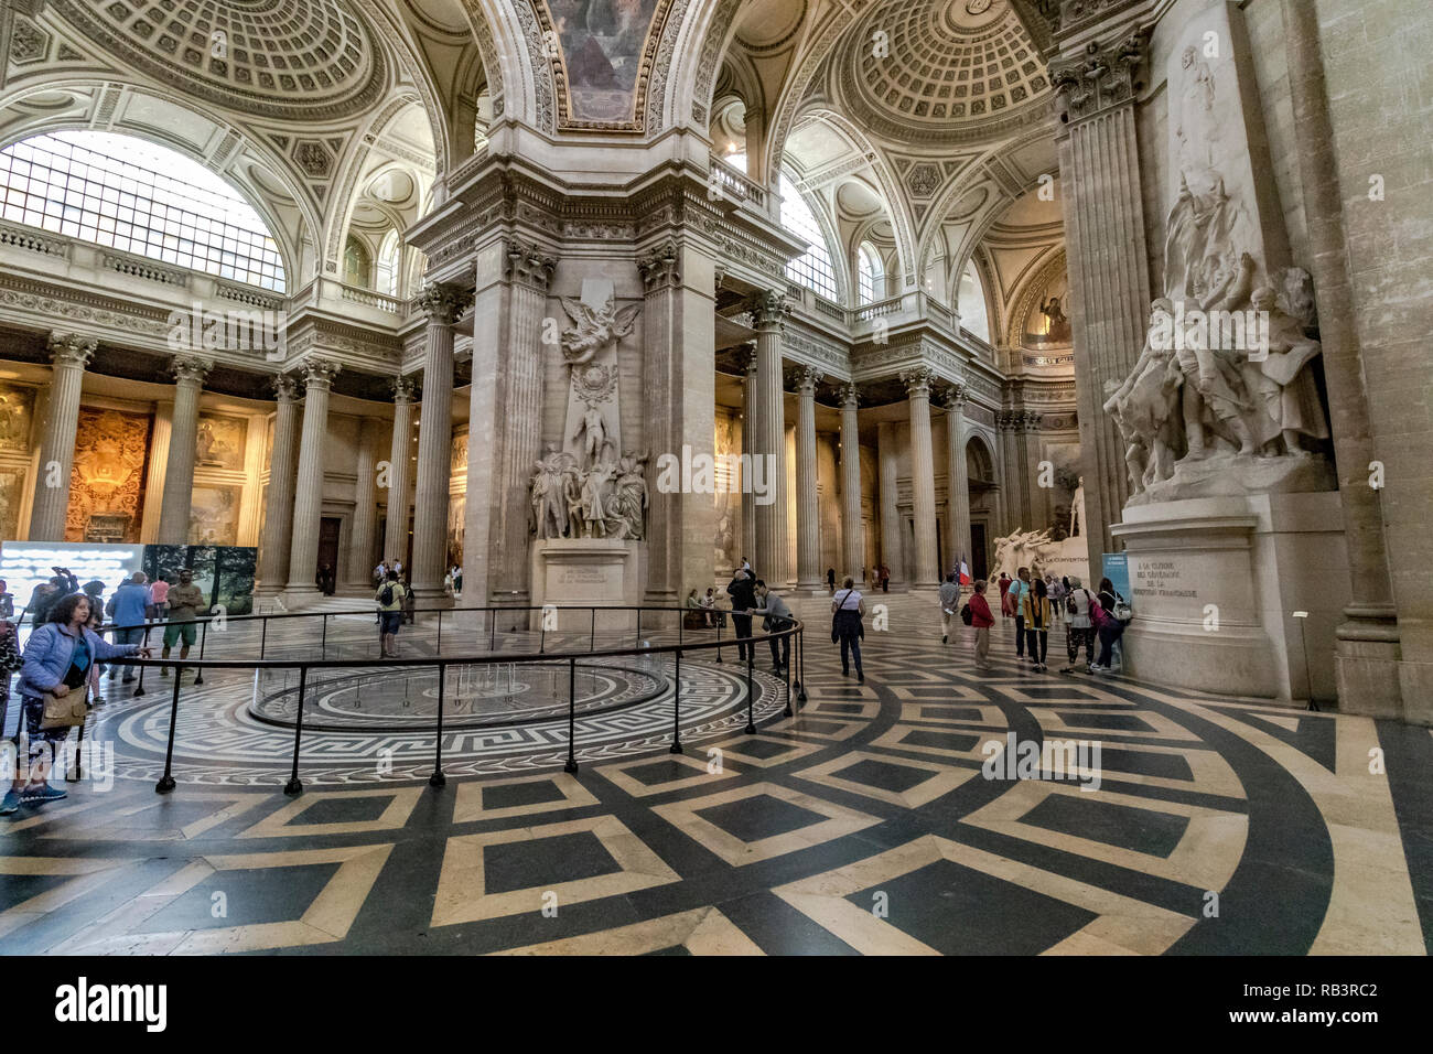
{"label": "black and cream geometric marble floor outside the circular railing", "polygon": [[[67,784],[66,802],[0,820],[0,952],[1433,945],[1427,728],[1036,674],[1016,664],[1009,627],[995,631],[996,670],[979,674],[970,641],[943,645],[927,605],[888,602],[891,630],[867,622],[864,685],[841,677],[823,640],[825,605],[805,601],[808,701],[797,716],[782,717],[778,698],[755,736],[742,733],[742,710],[731,727],[706,721],[699,740],[684,728],[684,754],[653,736],[643,750],[579,757],[576,774],[466,776],[446,760],[449,783],[433,790],[417,779],[430,764],[330,783],[310,782],[305,764],[305,792],[289,799],[272,780],[291,737],[244,727],[268,737],[269,763],[251,756],[262,740],[231,763],[261,786],[202,779],[225,764],[221,749],[188,759],[192,771],[176,766],[178,789],[158,796],[149,746],[135,746],[148,708],[112,704],[93,734],[122,756],[113,786]],[[1052,660],[1063,658],[1053,637]],[[682,673],[684,707],[706,678],[715,695],[729,687],[729,670]],[[222,716],[225,687],[214,693],[208,713]],[[1099,746],[1093,773],[983,769],[987,751],[1035,744],[1059,760],[1072,741]]]}

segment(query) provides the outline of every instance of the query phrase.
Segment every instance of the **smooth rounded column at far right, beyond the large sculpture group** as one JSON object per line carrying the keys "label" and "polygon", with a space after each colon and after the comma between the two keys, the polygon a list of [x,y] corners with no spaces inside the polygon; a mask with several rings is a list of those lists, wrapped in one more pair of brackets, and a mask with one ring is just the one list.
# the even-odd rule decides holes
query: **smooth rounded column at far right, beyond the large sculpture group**
{"label": "smooth rounded column at far right, beyond the large sculpture group", "polygon": [[[1369,463],[1379,455],[1374,450],[1373,423],[1369,416],[1367,366],[1358,333],[1354,305],[1353,280],[1350,277],[1348,241],[1344,234],[1343,194],[1337,156],[1334,153],[1334,129],[1328,113],[1328,93],[1324,85],[1324,66],[1320,47],[1318,11],[1305,0],[1284,0],[1284,49],[1288,62],[1288,89],[1294,105],[1294,145],[1298,153],[1300,185],[1304,192],[1304,215],[1308,218],[1308,270],[1318,294],[1318,336],[1323,341],[1324,381],[1328,390],[1328,414],[1333,420],[1334,462],[1338,467],[1338,496],[1343,502],[1344,542],[1348,546],[1348,579],[1351,591],[1348,605],[1343,609],[1346,621],[1336,631],[1334,675],[1338,683],[1338,706],[1346,713],[1370,714],[1374,717],[1407,717],[1423,724],[1433,721],[1433,707],[1420,704],[1412,711],[1407,704],[1417,698],[1430,698],[1427,691],[1433,674],[1417,677],[1409,665],[1400,685],[1400,660],[1412,658],[1412,651],[1423,651],[1424,670],[1433,648],[1400,647],[1400,627],[1394,614],[1393,584],[1389,575],[1387,539],[1384,536],[1383,495],[1369,486]],[[1346,106],[1356,105],[1346,100]],[[1383,129],[1379,129],[1383,133]],[[1422,194],[1412,189],[1410,194]],[[1393,209],[1394,204],[1371,206],[1379,212]],[[1370,221],[1374,222],[1374,221]],[[1384,217],[1376,221],[1380,225]],[[1380,228],[1383,229],[1383,228]],[[1424,239],[1426,241],[1426,239]],[[1371,254],[1379,255],[1379,254]],[[1383,262],[1380,260],[1380,267]],[[1377,288],[1391,288],[1379,283]],[[1394,294],[1397,295],[1397,294]],[[1404,314],[1387,313],[1390,324],[1404,327]],[[1412,336],[1413,331],[1407,330]],[[1416,337],[1422,340],[1422,337]],[[1383,343],[1383,341],[1380,341]],[[1389,341],[1390,356],[1397,354],[1397,346]],[[1412,361],[1412,360],[1410,360]],[[1404,364],[1400,361],[1400,367]],[[1379,371],[1374,371],[1379,376]],[[1399,369],[1393,377],[1394,386],[1407,387],[1407,373]],[[1397,380],[1401,379],[1401,380]],[[1417,389],[1419,386],[1413,386]],[[1409,397],[1409,396],[1406,396]],[[1409,404],[1422,403],[1422,393],[1413,393]],[[1426,426],[1426,404],[1422,406]],[[1393,417],[1384,416],[1384,420]],[[1404,433],[1403,427],[1390,429]],[[1424,475],[1427,462],[1416,453],[1416,446],[1399,445],[1409,459],[1409,467],[1419,462],[1416,472]],[[1390,469],[1390,476],[1391,476]],[[1412,486],[1420,486],[1413,483]],[[1412,502],[1416,509],[1420,502]],[[1422,502],[1426,505],[1426,502]],[[1410,522],[1417,522],[1416,533],[1426,538],[1427,523],[1422,513],[1413,513]],[[1423,561],[1407,568],[1410,581],[1426,578]],[[1413,598],[1429,609],[1427,589],[1417,585],[1409,589],[1409,605]],[[1409,619],[1427,627],[1427,618]],[[1424,641],[1433,641],[1433,634],[1423,630]],[[1404,691],[1423,680],[1417,691]]]}

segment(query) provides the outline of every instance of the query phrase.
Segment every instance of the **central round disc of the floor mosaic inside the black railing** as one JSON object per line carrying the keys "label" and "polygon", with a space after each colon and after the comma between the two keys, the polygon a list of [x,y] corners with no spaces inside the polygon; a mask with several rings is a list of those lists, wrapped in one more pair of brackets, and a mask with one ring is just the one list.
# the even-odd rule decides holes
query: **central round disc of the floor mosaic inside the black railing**
{"label": "central round disc of the floor mosaic inside the black railing", "polygon": [[[285,671],[288,673],[288,671]],[[572,681],[569,684],[569,680]],[[443,726],[497,728],[566,717],[569,691],[577,714],[605,714],[658,698],[671,687],[656,665],[503,663],[449,667],[441,681]],[[342,673],[310,681],[304,693],[304,727],[312,731],[436,730],[437,670]],[[298,685],[259,684],[249,716],[264,724],[292,728]]]}

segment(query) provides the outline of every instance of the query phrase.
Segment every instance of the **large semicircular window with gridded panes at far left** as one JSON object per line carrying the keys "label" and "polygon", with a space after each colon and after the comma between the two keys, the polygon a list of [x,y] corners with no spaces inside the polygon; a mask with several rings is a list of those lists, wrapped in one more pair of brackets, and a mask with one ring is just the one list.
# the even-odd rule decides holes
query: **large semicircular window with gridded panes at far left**
{"label": "large semicircular window with gridded panes at far left", "polygon": [[16,224],[284,293],[259,214],[182,153],[109,132],[54,132],[0,151],[0,215]]}

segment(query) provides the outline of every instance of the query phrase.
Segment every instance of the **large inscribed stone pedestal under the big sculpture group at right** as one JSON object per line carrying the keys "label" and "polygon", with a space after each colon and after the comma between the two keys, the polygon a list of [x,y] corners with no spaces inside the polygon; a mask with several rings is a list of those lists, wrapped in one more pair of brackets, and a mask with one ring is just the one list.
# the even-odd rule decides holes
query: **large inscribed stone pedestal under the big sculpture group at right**
{"label": "large inscribed stone pedestal under the big sculpture group at right", "polygon": [[1126,673],[1287,703],[1337,697],[1334,630],[1348,599],[1337,490],[1128,506],[1111,532],[1134,592]]}

